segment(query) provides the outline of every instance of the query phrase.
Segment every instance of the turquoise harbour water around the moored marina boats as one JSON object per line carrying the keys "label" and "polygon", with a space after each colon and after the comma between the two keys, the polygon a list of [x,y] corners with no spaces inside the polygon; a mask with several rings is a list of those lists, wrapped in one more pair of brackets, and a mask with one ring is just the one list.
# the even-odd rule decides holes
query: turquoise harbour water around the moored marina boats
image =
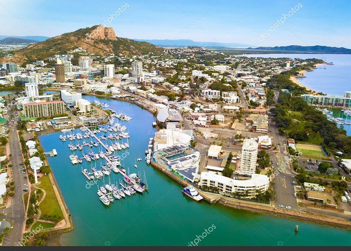
{"label": "turquoise harbour water around the moored marina boats", "polygon": [[[71,151],[67,142],[59,140],[60,133],[40,136],[45,152],[54,148],[58,152],[57,157],[49,157],[48,161],[74,223],[73,231],[61,236],[62,245],[188,245],[212,225],[216,229],[201,239],[199,245],[351,244],[349,231],[193,201],[182,193],[181,185],[147,166],[145,161],[137,162],[137,169],[133,167],[136,158],[144,160],[148,140],[155,132],[152,114],[123,101],[84,98],[107,102],[109,108],[132,116],[129,122],[119,121],[130,134],[125,167],[129,167],[130,173],[145,171],[149,190],[106,207],[96,194],[97,185],[90,186],[80,172],[86,166],[84,162],[71,164],[68,158]],[[121,176],[114,178],[118,180]],[[296,224],[299,231],[295,234]]]}

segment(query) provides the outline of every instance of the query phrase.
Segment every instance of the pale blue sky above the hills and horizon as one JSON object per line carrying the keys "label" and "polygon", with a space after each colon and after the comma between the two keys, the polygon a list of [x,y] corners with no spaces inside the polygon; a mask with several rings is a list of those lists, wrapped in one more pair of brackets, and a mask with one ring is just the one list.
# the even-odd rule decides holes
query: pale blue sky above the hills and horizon
{"label": "pale blue sky above the hills and horizon", "polygon": [[351,48],[350,16],[349,0],[0,0],[0,35],[53,37],[103,24],[131,39]]}

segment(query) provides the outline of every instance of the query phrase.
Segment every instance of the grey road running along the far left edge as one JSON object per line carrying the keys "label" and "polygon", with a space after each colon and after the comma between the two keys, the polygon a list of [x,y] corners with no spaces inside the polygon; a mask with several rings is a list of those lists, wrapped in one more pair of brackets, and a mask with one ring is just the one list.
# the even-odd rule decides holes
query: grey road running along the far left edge
{"label": "grey road running along the far left edge", "polygon": [[[9,117],[14,114],[9,109]],[[15,116],[16,118],[16,116]],[[4,245],[14,246],[22,240],[23,228],[25,223],[25,209],[23,204],[23,194],[26,187],[23,185],[27,183],[26,175],[21,174],[20,164],[22,163],[22,151],[21,145],[17,136],[16,127],[12,127],[9,133],[9,144],[11,153],[11,164],[12,175],[15,181],[15,196],[13,197],[12,206],[2,210],[2,213],[6,213],[4,218],[13,221],[14,227],[11,235],[4,238]]]}

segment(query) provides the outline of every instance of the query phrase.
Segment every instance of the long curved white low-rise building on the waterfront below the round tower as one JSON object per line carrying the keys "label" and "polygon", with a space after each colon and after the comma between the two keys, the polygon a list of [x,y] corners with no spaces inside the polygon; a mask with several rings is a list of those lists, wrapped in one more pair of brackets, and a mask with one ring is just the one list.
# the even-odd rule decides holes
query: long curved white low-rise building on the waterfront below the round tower
{"label": "long curved white low-rise building on the waterfront below the round tower", "polygon": [[232,195],[233,193],[246,194],[247,198],[253,198],[258,193],[267,191],[269,177],[266,175],[252,174],[251,179],[239,180],[228,178],[215,172],[202,172],[200,176],[200,187],[217,187],[221,194]]}

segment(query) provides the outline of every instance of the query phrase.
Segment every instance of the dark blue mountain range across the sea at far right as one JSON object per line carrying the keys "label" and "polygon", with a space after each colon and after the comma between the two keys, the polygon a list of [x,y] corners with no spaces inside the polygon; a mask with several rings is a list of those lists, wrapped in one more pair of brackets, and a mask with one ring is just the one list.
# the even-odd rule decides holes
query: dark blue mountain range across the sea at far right
{"label": "dark blue mountain range across the sea at far right", "polygon": [[[343,47],[329,47],[329,46],[300,46],[300,45],[289,45],[289,46],[275,46],[275,47],[257,47],[247,48],[248,50],[262,50],[262,51],[277,51],[287,53],[321,53],[321,54],[351,54],[351,49]],[[267,53],[267,52],[266,52]]]}

